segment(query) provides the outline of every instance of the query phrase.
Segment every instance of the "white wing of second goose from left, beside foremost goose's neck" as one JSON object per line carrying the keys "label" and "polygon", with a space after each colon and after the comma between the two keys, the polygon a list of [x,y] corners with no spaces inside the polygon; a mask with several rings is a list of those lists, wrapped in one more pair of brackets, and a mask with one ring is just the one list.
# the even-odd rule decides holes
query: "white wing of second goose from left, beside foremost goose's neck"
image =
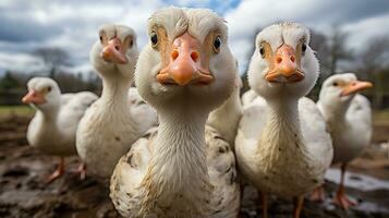
{"label": "white wing of second goose from left, beside foremost goose's neck", "polygon": [[142,133],[158,125],[157,111],[141,97],[135,87],[129,89],[130,110]]}

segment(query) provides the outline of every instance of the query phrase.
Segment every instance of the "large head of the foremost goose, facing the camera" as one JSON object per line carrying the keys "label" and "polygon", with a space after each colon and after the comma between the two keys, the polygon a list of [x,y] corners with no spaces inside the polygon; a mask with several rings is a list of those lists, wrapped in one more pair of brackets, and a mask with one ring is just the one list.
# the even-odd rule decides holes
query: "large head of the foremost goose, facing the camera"
{"label": "large head of the foremost goose, facing the camera", "polygon": [[135,71],[141,96],[157,110],[185,106],[209,112],[221,105],[236,71],[227,32],[223,20],[207,9],[156,11]]}

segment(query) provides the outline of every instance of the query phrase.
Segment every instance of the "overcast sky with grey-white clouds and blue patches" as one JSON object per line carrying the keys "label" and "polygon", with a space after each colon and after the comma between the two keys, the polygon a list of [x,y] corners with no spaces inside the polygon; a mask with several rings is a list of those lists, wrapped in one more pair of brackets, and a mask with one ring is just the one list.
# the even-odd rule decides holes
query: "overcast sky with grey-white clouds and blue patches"
{"label": "overcast sky with grey-white clouds and blue patches", "polygon": [[168,5],[210,8],[226,19],[230,47],[244,69],[253,35],[278,21],[301,22],[328,34],[335,24],[350,33],[348,46],[361,48],[376,35],[389,37],[388,0],[0,0],[0,73],[7,69],[32,72],[42,63],[31,52],[59,47],[71,56],[70,71],[89,71],[88,53],[104,23],[133,27],[138,47],[146,44],[146,22]]}

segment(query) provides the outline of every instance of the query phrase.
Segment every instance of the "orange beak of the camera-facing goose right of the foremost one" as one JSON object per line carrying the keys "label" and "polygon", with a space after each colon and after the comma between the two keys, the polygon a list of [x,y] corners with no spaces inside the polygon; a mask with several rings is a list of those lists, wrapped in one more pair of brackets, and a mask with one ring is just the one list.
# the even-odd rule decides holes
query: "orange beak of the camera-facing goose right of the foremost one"
{"label": "orange beak of the camera-facing goose right of the foremost one", "polygon": [[265,76],[268,82],[277,83],[285,78],[287,82],[294,83],[305,77],[296,63],[294,49],[288,45],[277,49],[272,66]]}

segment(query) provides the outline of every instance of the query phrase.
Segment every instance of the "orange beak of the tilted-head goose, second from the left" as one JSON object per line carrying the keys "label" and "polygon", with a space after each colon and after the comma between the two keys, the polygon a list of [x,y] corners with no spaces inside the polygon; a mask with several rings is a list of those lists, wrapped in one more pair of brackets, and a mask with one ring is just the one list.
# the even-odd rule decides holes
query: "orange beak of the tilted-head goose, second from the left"
{"label": "orange beak of the tilted-head goose, second from the left", "polygon": [[121,63],[121,64],[129,62],[127,58],[125,57],[123,44],[117,37],[110,39],[108,41],[108,45],[106,45],[102,48],[101,58],[105,61]]}

